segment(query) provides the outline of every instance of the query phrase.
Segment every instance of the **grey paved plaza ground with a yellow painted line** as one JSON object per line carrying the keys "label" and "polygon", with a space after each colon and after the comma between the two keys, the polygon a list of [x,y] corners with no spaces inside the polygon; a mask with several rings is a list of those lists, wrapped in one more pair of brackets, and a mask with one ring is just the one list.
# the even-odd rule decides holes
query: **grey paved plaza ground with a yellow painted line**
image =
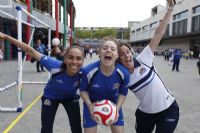
{"label": "grey paved plaza ground with a yellow painted line", "polygon": [[[98,56],[94,56],[92,59],[87,57],[85,64],[96,59],[98,59]],[[180,121],[175,133],[200,133],[200,75],[197,73],[196,62],[196,59],[181,59],[180,72],[172,72],[169,62],[164,61],[162,56],[155,58],[154,63],[161,78],[173,92],[180,106]],[[17,61],[4,61],[0,64],[0,87],[15,82],[16,77]],[[46,81],[47,78],[47,72],[36,73],[35,64],[25,62],[23,80]],[[30,104],[43,92],[43,88],[44,85],[39,84],[23,85],[23,111],[30,107]],[[18,106],[17,93],[16,86],[0,92],[0,107]],[[9,133],[39,133],[41,128],[41,101],[35,101],[36,103],[24,114],[0,112],[0,133],[4,133],[6,129]],[[82,100],[80,100],[80,103],[82,108]],[[125,133],[135,133],[134,112],[137,104],[137,99],[129,92],[123,105]],[[67,114],[64,108],[60,106],[54,123],[54,133],[70,132]],[[110,129],[109,127],[99,126],[98,133],[110,133]]]}

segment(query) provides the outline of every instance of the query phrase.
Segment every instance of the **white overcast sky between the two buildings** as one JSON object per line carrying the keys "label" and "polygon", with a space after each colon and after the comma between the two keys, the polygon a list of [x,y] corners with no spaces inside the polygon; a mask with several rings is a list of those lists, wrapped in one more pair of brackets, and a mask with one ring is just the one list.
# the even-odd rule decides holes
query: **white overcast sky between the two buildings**
{"label": "white overcast sky between the two buildings", "polygon": [[151,8],[166,0],[73,0],[76,27],[128,27],[128,21],[142,21]]}

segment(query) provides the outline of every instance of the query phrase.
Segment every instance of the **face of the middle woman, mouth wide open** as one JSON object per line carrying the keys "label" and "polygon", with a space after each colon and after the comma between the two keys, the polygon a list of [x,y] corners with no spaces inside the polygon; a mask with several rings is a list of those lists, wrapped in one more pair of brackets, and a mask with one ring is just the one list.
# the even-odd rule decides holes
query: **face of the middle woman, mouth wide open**
{"label": "face of the middle woman, mouth wide open", "polygon": [[100,61],[102,66],[114,66],[118,58],[117,44],[114,41],[106,41],[100,49]]}

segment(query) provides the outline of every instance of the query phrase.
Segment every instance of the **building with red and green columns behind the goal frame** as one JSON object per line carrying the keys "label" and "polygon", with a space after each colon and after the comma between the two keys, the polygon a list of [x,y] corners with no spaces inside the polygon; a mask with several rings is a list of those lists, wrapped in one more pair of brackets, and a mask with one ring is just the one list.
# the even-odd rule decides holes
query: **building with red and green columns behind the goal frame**
{"label": "building with red and green columns behind the goal frame", "polygon": [[[10,2],[9,2],[10,1]],[[64,40],[64,29],[66,29],[66,46],[70,45],[70,36],[71,36],[71,29],[68,24],[68,16],[69,11],[66,12],[66,25],[64,25],[64,16],[63,16],[63,3],[62,1],[58,0],[58,29],[56,29],[56,15],[55,15],[55,0],[0,0],[0,31],[4,32],[8,35],[11,35],[17,38],[17,22],[13,18],[9,17],[8,15],[4,14],[3,12],[17,17],[17,10],[14,8],[15,6],[20,6],[23,9],[27,10],[27,1],[31,3],[31,14],[42,21],[43,23],[50,26],[51,29],[51,38],[55,37],[55,33],[58,32],[59,38],[61,40],[61,44]],[[69,1],[68,1],[69,2]],[[66,3],[69,5],[69,3]],[[3,8],[1,6],[12,5],[13,8]],[[22,14],[22,20],[28,22],[28,16]],[[33,35],[33,45],[35,39],[40,36],[43,43],[46,45],[48,44],[48,28],[40,25],[38,22],[31,19],[29,21],[32,25],[36,25],[35,32]],[[27,39],[27,25],[22,24],[22,41],[28,43],[29,40]],[[29,37],[28,37],[29,38]],[[17,58],[17,48],[8,41],[4,42],[4,59],[5,60],[12,60]]]}

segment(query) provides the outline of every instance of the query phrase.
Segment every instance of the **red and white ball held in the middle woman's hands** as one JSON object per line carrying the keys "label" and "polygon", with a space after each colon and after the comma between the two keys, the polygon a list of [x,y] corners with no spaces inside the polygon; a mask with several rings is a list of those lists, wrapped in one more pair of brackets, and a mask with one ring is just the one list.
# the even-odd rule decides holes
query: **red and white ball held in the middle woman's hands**
{"label": "red and white ball held in the middle woman's hands", "polygon": [[117,116],[116,105],[109,100],[98,101],[94,105],[93,116],[97,123],[109,126]]}

